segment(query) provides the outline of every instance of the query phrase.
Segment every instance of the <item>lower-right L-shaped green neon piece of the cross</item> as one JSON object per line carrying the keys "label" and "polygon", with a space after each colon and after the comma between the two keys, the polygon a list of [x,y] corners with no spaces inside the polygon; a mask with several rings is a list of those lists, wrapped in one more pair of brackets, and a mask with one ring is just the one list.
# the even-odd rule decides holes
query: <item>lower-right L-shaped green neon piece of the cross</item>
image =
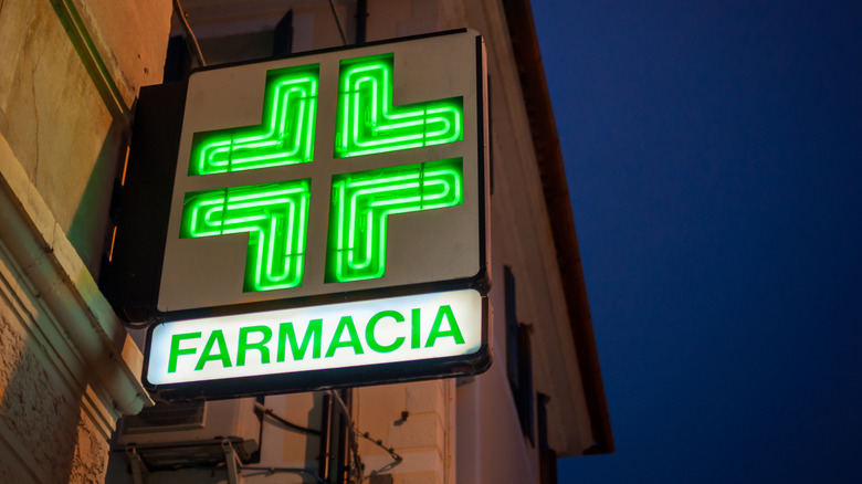
{"label": "lower-right L-shaped green neon piece of the cross", "polygon": [[333,176],[325,281],[382,277],[389,215],[462,201],[461,158]]}

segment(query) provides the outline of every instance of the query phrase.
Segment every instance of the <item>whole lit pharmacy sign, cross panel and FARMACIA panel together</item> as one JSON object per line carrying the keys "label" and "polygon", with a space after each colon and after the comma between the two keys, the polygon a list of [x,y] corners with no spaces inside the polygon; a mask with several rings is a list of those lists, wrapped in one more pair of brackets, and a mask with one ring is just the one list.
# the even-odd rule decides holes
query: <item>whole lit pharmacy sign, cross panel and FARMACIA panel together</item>
{"label": "whole lit pharmacy sign, cross panel and FARMACIA panel together", "polygon": [[[484,62],[481,38],[462,31],[192,73],[156,302],[165,323],[150,334],[148,383],[455,357],[485,365],[481,337],[453,335],[453,346],[433,330],[383,330],[399,318],[419,325],[420,306],[387,308],[392,297],[463,290],[480,301],[465,313],[454,313],[461,303],[450,305],[451,317],[443,305],[421,312],[437,311],[464,338],[486,333]],[[356,314],[353,323],[293,322],[326,349],[288,361],[292,333],[280,333],[281,319],[302,317],[278,312],[336,302],[350,302],[332,307]],[[353,356],[337,347],[338,332],[359,332]],[[432,345],[416,347],[416,338]],[[246,354],[257,364],[240,365]]]}

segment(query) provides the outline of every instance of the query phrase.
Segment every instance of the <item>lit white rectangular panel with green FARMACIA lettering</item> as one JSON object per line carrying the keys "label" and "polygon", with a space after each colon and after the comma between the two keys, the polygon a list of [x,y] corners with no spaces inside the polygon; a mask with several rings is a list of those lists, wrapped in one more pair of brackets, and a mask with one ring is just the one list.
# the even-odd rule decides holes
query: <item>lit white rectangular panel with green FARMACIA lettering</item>
{"label": "lit white rectangular panel with green FARMACIA lettering", "polygon": [[[164,323],[146,379],[165,386],[476,354],[483,302],[462,290]],[[369,371],[374,371],[370,370]]]}

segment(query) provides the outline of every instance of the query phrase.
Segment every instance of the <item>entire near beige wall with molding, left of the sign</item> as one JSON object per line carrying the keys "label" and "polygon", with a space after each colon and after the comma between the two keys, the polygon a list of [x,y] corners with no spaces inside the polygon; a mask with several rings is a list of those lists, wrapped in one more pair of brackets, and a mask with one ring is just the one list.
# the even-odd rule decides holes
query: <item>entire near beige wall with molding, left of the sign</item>
{"label": "entire near beige wall with molding, left of the sign", "polygon": [[93,275],[169,15],[169,0],[0,0],[0,482],[102,482],[116,419],[149,401]]}

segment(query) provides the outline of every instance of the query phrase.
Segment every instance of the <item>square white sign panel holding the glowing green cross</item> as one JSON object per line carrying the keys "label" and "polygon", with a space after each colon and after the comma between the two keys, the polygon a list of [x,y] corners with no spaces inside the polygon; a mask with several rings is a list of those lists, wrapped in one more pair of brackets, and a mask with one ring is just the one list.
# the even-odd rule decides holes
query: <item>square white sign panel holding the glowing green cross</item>
{"label": "square white sign panel holding the glowing green cross", "polygon": [[486,277],[484,72],[463,31],[192,73],[158,311]]}

